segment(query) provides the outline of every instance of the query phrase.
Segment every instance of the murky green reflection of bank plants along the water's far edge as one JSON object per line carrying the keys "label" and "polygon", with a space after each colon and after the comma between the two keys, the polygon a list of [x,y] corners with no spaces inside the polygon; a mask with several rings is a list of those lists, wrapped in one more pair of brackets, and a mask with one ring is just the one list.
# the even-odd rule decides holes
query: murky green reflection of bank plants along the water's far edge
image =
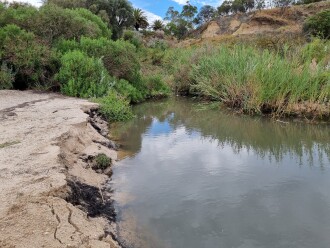
{"label": "murky green reflection of bank plants along the water's far edge", "polygon": [[[329,126],[283,124],[200,106],[182,98],[138,105],[137,118],[120,124],[114,129],[114,136],[124,142],[124,149],[135,154],[141,149],[142,135],[157,118],[160,122],[168,121],[173,129],[183,125],[188,132],[198,131],[203,138],[217,140],[220,147],[231,146],[236,153],[247,149],[276,161],[290,155],[307,158],[311,165],[314,159],[330,160]],[[172,113],[173,118],[169,118]]]}

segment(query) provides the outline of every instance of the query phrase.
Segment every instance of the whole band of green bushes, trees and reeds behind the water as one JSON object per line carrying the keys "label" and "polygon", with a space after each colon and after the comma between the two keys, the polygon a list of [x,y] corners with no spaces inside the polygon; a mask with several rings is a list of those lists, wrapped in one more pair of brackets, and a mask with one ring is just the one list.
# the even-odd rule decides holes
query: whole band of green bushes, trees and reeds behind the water
{"label": "whole band of green bushes, trees and reeds behind the water", "polygon": [[1,3],[0,89],[90,98],[110,121],[131,118],[130,104],[171,90],[252,114],[330,116],[329,10],[306,20],[309,43],[264,36],[170,47],[173,35],[183,38],[219,13],[188,2],[181,12],[169,8],[167,24],[156,20],[154,32],[139,31],[148,20],[126,0],[48,0],[39,9]]}

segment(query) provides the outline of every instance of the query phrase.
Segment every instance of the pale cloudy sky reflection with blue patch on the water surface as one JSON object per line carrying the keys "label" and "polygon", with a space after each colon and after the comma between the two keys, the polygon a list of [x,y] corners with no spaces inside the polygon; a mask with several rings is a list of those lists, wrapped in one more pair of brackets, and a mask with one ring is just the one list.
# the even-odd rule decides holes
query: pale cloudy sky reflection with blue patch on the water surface
{"label": "pale cloudy sky reflection with blue patch on the water surface", "polygon": [[289,149],[275,159],[179,123],[154,118],[141,150],[114,168],[117,192],[134,196],[121,207],[155,237],[150,247],[330,247],[330,161],[321,144],[311,146],[312,162]]}

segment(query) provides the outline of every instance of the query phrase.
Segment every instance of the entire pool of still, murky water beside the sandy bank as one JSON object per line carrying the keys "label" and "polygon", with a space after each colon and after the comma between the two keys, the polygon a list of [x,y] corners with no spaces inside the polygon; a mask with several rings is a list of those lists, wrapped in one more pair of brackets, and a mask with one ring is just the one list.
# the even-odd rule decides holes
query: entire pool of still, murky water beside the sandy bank
{"label": "entire pool of still, murky water beside the sandy bank", "polygon": [[330,126],[236,116],[185,99],[113,128],[128,247],[330,247]]}

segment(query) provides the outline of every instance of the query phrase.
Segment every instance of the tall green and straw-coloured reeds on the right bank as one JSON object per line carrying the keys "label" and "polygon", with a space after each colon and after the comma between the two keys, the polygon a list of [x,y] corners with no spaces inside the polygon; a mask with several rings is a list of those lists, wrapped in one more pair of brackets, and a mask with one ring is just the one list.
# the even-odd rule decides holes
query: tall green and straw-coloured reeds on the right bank
{"label": "tall green and straw-coloured reeds on the right bank", "polygon": [[[328,45],[324,43],[323,48]],[[325,52],[330,54],[329,49]],[[292,114],[293,106],[300,105],[303,112],[313,104],[314,108],[320,106],[316,112],[322,109],[317,114],[329,116],[330,56],[318,56],[317,61],[311,48],[279,54],[251,46],[221,45],[174,54],[181,55],[178,61],[184,60],[183,66],[188,67],[184,75],[190,92],[244,112]],[[174,79],[181,76],[179,69],[172,72]]]}

